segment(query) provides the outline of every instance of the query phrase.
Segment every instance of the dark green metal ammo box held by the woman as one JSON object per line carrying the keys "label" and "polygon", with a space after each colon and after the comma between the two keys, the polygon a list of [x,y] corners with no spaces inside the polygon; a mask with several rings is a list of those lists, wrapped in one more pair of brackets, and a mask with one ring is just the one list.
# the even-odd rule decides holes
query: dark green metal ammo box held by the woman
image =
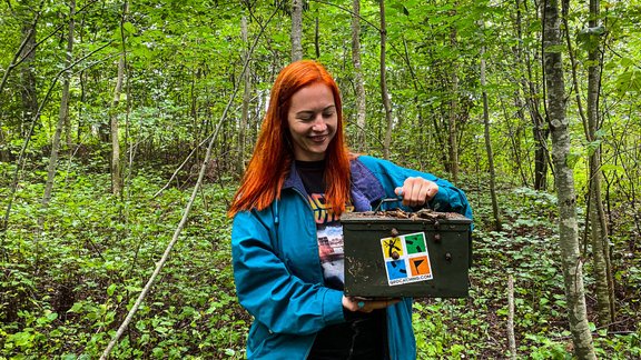
{"label": "dark green metal ammo box held by the woman", "polygon": [[464,298],[472,220],[453,212],[368,211],[341,217],[345,294]]}

